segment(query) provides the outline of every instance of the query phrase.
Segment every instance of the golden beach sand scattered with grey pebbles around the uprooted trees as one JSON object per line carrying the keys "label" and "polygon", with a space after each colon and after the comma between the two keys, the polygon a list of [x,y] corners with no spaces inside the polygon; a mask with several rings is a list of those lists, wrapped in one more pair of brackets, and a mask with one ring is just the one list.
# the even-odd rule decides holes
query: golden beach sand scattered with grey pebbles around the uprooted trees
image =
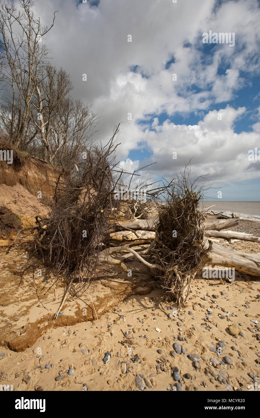
{"label": "golden beach sand scattered with grey pebbles around the uprooted trees", "polygon": [[[241,221],[240,228],[260,234],[256,222]],[[217,242],[260,252],[254,242]],[[21,281],[25,257],[19,245],[7,254],[1,248],[2,385],[25,391],[163,391],[177,386],[182,391],[248,391],[255,381],[260,385],[259,278],[235,272],[234,282],[221,285],[219,279],[197,276],[186,308],[176,311],[162,301],[158,283],[147,276],[128,278],[116,268],[107,273],[100,268],[98,280],[88,290],[99,319],[84,293],[81,299],[65,303],[63,314],[53,321],[63,285],[58,283],[46,293],[52,277],[39,261],[34,273],[31,267]],[[126,264],[131,268],[136,263],[131,259]],[[40,277],[35,274],[39,268]],[[242,334],[229,334],[233,323]],[[182,354],[175,353],[174,342],[179,342]],[[223,342],[222,353],[217,352],[218,342]],[[106,352],[111,358],[104,364]],[[198,364],[187,354],[197,354]],[[68,374],[70,369],[73,375]],[[179,379],[176,373],[180,385],[174,380]],[[59,375],[61,380],[55,380]]]}

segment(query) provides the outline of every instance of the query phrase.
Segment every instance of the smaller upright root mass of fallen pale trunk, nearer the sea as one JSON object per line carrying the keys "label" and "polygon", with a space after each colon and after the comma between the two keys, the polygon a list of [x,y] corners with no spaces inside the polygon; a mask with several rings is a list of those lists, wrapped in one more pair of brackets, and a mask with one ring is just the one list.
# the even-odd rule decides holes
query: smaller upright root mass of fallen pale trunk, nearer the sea
{"label": "smaller upright root mass of fallen pale trunk, nearer the sea", "polygon": [[196,190],[189,174],[186,167],[167,189],[166,201],[157,204],[156,241],[151,251],[152,260],[165,270],[160,271],[165,296],[176,300],[177,306],[185,306],[191,281],[206,253],[202,246],[204,217],[198,209],[202,188]]}

